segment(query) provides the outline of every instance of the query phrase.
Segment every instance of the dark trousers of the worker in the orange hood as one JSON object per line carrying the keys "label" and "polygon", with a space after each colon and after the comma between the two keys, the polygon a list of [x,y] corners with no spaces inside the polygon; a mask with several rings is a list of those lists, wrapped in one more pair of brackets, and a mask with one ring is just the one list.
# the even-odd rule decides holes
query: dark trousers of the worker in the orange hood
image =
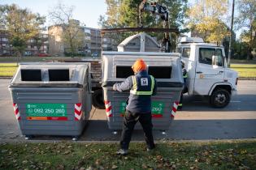
{"label": "dark trousers of the worker in the orange hood", "polygon": [[144,130],[145,142],[148,148],[154,148],[154,139],[152,135],[152,116],[151,113],[131,113],[128,110],[125,112],[123,131],[120,140],[120,147],[128,150],[129,143],[132,138],[132,131],[137,121],[140,121]]}

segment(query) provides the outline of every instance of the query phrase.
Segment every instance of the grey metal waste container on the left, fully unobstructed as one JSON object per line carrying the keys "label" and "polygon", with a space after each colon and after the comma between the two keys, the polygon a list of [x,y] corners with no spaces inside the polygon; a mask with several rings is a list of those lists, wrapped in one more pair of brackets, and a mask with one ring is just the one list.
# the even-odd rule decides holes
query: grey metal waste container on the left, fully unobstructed
{"label": "grey metal waste container on the left, fully unobstructed", "polygon": [[9,90],[21,134],[82,133],[91,110],[88,63],[20,64]]}

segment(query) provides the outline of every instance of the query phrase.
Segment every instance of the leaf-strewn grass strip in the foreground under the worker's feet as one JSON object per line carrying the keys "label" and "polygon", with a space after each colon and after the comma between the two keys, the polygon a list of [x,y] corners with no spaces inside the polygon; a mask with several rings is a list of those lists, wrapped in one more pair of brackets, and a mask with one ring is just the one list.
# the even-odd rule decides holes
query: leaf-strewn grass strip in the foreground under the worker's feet
{"label": "leaf-strewn grass strip in the foreground under the worker's feet", "polygon": [[23,143],[0,146],[1,169],[256,169],[256,142],[159,143],[154,151],[132,143]]}

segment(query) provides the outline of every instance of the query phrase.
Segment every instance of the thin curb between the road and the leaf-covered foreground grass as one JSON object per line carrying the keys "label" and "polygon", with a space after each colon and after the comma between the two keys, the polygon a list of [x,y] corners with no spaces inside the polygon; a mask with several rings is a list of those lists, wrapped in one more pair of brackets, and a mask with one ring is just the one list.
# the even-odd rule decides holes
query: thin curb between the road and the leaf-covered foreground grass
{"label": "thin curb between the road and the leaf-covered foreground grass", "polygon": [[[0,139],[0,146],[5,143],[86,143],[86,144],[119,144],[119,141],[64,141],[64,140],[18,140]],[[132,143],[144,143],[145,141],[131,141]],[[256,142],[256,138],[239,139],[206,139],[206,140],[155,140],[155,143],[207,143],[207,142]]]}

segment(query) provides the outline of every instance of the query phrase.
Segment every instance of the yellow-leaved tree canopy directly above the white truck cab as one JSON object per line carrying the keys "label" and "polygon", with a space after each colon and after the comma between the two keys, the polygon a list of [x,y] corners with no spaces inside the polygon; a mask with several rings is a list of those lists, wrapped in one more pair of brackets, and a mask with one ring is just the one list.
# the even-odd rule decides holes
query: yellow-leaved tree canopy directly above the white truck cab
{"label": "yellow-leaved tree canopy directly above the white truck cab", "polygon": [[206,41],[221,43],[229,34],[224,22],[227,11],[228,0],[199,0],[188,10],[188,27]]}

